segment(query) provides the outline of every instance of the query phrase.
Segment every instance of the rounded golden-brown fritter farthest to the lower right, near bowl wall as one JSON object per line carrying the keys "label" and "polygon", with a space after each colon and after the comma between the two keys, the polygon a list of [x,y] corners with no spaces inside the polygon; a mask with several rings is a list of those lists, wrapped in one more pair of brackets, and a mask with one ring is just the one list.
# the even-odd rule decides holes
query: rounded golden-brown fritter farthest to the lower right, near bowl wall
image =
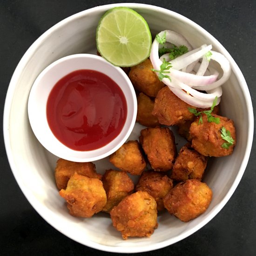
{"label": "rounded golden-brown fritter farthest to the lower right, near bowl wall", "polygon": [[206,183],[198,180],[180,182],[164,197],[164,207],[171,215],[189,222],[209,207],[212,191]]}

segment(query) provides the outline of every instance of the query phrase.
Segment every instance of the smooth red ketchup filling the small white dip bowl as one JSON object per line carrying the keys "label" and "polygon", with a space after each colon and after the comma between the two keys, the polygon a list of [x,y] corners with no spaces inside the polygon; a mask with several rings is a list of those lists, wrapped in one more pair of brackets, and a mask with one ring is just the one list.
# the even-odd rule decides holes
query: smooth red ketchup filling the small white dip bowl
{"label": "smooth red ketchup filling the small white dip bowl", "polygon": [[121,88],[106,74],[81,69],[54,85],[46,111],[49,127],[62,144],[88,151],[120,134],[127,103]]}

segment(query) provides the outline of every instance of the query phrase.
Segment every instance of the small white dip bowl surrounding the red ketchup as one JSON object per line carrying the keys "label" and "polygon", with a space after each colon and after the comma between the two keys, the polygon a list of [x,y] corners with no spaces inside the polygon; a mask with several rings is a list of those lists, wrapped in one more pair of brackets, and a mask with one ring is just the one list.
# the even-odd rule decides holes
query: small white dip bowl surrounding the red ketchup
{"label": "small white dip bowl surrounding the red ketchup", "polygon": [[[80,69],[90,69],[108,75],[121,88],[128,108],[127,118],[120,134],[105,146],[88,151],[73,150],[62,144],[54,136],[47,122],[46,106],[52,88],[65,75]],[[93,54],[73,54],[54,61],[34,81],[28,98],[28,117],[37,139],[52,154],[74,162],[92,162],[114,153],[131,134],[136,114],[136,94],[127,74],[120,67],[115,67],[102,57]]]}

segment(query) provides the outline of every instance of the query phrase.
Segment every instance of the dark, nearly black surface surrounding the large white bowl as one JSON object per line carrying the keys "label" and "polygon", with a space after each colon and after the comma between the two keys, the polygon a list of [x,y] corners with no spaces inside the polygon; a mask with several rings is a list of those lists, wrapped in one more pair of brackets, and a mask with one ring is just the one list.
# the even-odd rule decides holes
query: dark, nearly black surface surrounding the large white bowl
{"label": "dark, nearly black surface surrounding the large white bowl", "polygon": [[[74,13],[114,2],[126,1],[0,0],[1,113],[13,71],[34,40]],[[215,36],[241,68],[255,106],[255,0],[136,2],[180,13]],[[38,215],[17,185],[7,161],[3,136],[0,139],[0,255],[114,255],[70,240]],[[248,166],[234,195],[211,222],[178,243],[138,255],[256,255],[255,149],[253,145]]]}

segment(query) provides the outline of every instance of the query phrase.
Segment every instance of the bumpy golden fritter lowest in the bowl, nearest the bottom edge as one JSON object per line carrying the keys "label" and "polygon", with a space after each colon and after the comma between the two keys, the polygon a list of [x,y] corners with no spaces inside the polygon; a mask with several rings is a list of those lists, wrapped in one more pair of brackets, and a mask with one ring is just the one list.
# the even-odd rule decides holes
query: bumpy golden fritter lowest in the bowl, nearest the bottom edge
{"label": "bumpy golden fritter lowest in the bowl, nearest the bottom edge", "polygon": [[110,216],[123,239],[129,236],[149,237],[158,225],[155,199],[144,191],[125,197],[110,211]]}

